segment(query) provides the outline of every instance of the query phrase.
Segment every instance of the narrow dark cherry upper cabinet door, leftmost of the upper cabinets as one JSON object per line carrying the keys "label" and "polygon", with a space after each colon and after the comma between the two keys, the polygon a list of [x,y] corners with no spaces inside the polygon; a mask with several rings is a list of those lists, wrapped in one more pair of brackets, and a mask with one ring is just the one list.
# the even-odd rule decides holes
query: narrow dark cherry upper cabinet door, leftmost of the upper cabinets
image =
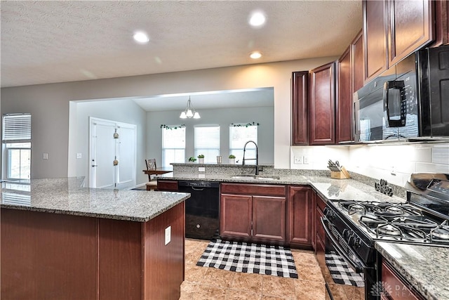
{"label": "narrow dark cherry upper cabinet door, leftmost of the upper cabinets", "polygon": [[292,145],[309,143],[307,126],[307,79],[309,72],[292,73]]}

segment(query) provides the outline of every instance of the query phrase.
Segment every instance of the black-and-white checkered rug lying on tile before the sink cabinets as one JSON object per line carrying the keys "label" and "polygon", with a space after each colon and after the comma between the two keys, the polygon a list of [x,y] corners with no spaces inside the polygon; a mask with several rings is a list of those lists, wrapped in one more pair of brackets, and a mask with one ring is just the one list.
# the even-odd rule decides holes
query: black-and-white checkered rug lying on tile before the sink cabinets
{"label": "black-and-white checkered rug lying on tile before the sink cabinets", "polygon": [[292,252],[281,246],[212,240],[196,266],[297,278]]}

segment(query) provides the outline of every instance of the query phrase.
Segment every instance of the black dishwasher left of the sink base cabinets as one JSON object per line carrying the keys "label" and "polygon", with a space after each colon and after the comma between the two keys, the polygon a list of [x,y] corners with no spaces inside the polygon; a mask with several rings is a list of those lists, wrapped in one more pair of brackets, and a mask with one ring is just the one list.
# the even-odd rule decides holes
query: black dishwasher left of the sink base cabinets
{"label": "black dishwasher left of the sink base cabinets", "polygon": [[218,234],[220,183],[178,181],[178,191],[190,193],[185,201],[185,237],[211,240]]}

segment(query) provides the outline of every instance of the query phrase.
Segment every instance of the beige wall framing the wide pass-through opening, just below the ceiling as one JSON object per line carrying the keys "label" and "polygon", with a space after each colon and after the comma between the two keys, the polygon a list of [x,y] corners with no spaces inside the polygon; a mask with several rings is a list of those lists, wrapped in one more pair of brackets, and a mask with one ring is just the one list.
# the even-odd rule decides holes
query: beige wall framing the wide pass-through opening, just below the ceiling
{"label": "beige wall framing the wide pass-through opening, just below the ceiling", "polygon": [[[336,58],[41,84],[1,89],[1,113],[32,114],[32,178],[65,177],[69,166],[69,101],[274,87],[274,165],[290,166],[290,79]],[[105,119],[108,119],[105,116]],[[147,138],[151,138],[147,136]],[[72,151],[72,150],[70,150]],[[42,159],[42,153],[48,159]],[[73,164],[73,162],[72,162]],[[72,166],[71,164],[71,166]]]}

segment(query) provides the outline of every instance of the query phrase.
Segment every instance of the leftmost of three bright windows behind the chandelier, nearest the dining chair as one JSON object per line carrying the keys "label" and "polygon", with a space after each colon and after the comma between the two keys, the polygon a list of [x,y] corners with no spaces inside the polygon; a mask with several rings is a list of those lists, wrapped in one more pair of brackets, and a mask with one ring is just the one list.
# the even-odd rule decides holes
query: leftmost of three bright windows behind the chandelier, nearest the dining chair
{"label": "leftmost of three bright windows behind the chandelier, nearest the dining chair", "polygon": [[162,167],[169,167],[170,162],[185,162],[184,126],[162,129]]}

